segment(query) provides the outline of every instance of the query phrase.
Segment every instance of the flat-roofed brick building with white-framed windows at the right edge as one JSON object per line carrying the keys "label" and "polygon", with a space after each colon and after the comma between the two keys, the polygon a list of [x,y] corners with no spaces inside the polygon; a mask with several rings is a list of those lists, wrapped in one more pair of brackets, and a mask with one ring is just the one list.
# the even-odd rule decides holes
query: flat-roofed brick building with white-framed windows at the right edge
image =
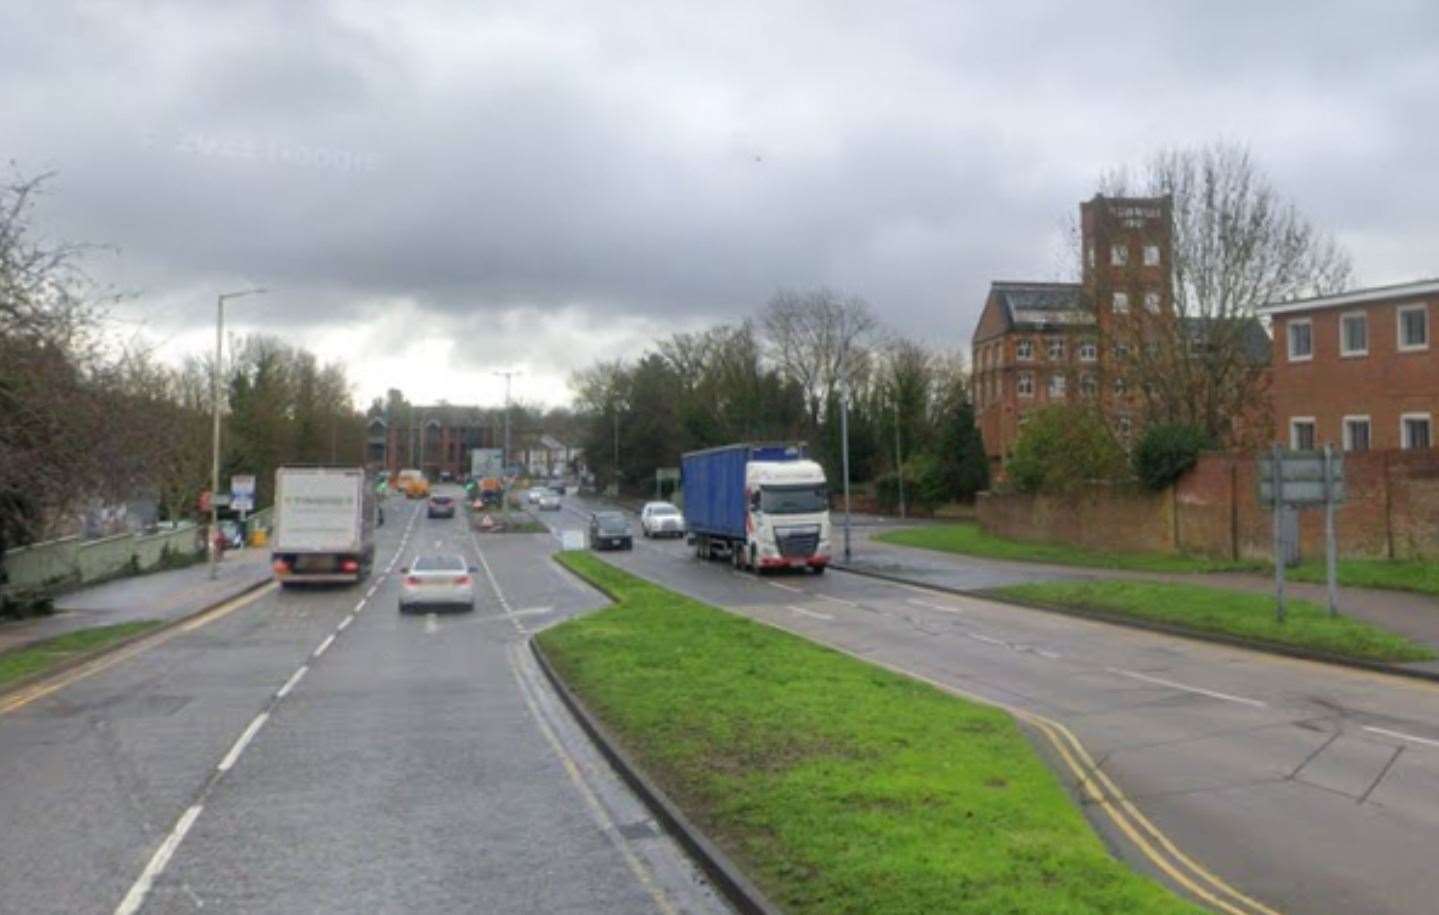
{"label": "flat-roofed brick building with white-framed windows at the right edge", "polygon": [[1274,322],[1275,440],[1430,449],[1439,414],[1439,279],[1259,309]]}

